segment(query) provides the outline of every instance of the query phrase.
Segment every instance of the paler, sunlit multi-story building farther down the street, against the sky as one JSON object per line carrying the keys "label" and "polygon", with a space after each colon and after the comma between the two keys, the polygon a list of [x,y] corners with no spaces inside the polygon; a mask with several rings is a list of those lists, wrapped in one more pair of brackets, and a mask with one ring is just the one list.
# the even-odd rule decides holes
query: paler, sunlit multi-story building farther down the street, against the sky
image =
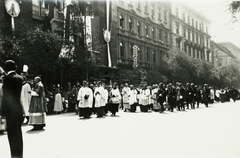
{"label": "paler, sunlit multi-story building farther down the street, against the sky", "polygon": [[171,45],[189,56],[212,62],[210,20],[182,3],[170,3]]}

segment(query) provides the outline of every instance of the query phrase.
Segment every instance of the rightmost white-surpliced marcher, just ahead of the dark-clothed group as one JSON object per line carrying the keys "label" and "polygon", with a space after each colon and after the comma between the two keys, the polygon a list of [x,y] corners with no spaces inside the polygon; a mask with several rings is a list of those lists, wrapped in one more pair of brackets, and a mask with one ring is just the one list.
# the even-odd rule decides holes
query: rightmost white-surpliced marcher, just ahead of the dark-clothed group
{"label": "rightmost white-surpliced marcher, just ahead of the dark-clothed group", "polygon": [[148,111],[149,95],[150,95],[150,90],[147,88],[147,84],[145,84],[141,90],[141,95],[140,95],[140,99],[139,99],[139,105],[140,105],[141,112]]}

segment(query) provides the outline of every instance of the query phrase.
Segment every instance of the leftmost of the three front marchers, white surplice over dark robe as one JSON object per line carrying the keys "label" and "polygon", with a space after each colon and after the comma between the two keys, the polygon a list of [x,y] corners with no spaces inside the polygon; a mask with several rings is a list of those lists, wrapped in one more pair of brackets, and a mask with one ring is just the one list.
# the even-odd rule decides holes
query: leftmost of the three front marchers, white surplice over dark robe
{"label": "leftmost of the three front marchers, white surplice over dark robe", "polygon": [[88,87],[88,82],[83,81],[83,86],[78,92],[79,117],[90,118],[93,106],[93,91]]}

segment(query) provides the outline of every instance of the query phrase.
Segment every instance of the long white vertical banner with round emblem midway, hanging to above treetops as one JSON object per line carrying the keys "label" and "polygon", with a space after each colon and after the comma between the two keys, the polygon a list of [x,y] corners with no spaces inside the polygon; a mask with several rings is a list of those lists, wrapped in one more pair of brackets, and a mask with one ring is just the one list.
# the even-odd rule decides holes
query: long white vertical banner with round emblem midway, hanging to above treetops
{"label": "long white vertical banner with round emblem midway, hanging to above treetops", "polygon": [[108,53],[108,67],[112,67],[112,61],[111,61],[111,54],[110,54],[110,47],[109,42],[111,39],[111,33],[109,31],[109,9],[110,9],[110,0],[106,0],[106,19],[107,19],[107,30],[104,31],[104,39],[107,42],[107,53]]}

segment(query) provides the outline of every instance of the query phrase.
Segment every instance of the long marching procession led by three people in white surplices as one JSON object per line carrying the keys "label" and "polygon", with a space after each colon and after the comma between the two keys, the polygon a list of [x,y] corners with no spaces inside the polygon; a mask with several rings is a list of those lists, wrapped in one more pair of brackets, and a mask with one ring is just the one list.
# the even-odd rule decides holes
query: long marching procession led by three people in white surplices
{"label": "long marching procession led by three people in white surplices", "polygon": [[103,117],[108,112],[111,116],[116,116],[119,109],[136,112],[137,107],[141,112],[160,113],[165,110],[173,112],[174,109],[184,111],[199,108],[200,104],[208,107],[214,102],[230,101],[230,98],[236,101],[239,91],[233,87],[218,90],[207,84],[201,88],[194,83],[183,85],[179,82],[175,85],[162,82],[152,86],[142,84],[140,87],[125,83],[124,86],[119,87],[116,82],[106,85],[101,81],[95,84],[83,81],[82,86],[79,84],[74,86],[73,90],[64,96],[62,97],[62,109],[66,109],[64,111],[69,107],[75,107],[79,117],[90,118],[93,114]]}

